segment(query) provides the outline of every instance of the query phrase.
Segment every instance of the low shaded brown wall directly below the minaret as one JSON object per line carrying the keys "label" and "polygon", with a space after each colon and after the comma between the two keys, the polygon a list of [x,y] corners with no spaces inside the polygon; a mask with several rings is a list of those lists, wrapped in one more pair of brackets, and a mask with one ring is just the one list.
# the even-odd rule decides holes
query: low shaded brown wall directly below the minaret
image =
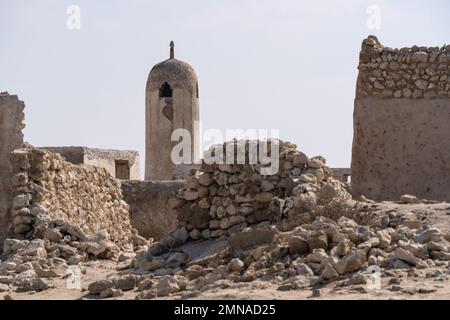
{"label": "low shaded brown wall directly below the minaret", "polygon": [[168,206],[183,187],[183,181],[122,181],[124,200],[130,205],[130,220],[139,234],[159,240],[177,226],[177,212]]}

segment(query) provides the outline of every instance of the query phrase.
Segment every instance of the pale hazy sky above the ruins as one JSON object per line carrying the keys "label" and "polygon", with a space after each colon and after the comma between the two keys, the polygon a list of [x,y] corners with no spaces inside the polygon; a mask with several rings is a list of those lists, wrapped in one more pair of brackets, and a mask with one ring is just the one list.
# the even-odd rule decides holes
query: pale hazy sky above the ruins
{"label": "pale hazy sky above the ruins", "polygon": [[31,144],[138,150],[143,170],[145,85],[173,40],[203,130],[279,129],[349,167],[362,40],[442,46],[449,13],[445,0],[0,0],[0,90],[25,102]]}

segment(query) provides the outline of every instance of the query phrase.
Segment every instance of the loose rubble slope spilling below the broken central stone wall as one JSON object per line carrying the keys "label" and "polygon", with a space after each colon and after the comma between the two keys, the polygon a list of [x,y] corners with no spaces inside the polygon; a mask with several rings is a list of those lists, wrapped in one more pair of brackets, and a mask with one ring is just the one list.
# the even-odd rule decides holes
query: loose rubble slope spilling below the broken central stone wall
{"label": "loose rubble slope spilling below the broken central stone wall", "polygon": [[[147,289],[136,298],[206,291],[220,281],[262,280],[278,290],[299,290],[330,282],[366,284],[370,270],[448,270],[450,247],[438,229],[395,213],[384,221],[371,227],[345,216],[336,221],[318,216],[289,231],[276,225],[245,228],[222,241],[187,242],[163,254],[158,243],[145,246],[134,266],[140,275],[136,287]],[[196,245],[210,252],[198,257]],[[139,287],[141,281],[146,285]]]}

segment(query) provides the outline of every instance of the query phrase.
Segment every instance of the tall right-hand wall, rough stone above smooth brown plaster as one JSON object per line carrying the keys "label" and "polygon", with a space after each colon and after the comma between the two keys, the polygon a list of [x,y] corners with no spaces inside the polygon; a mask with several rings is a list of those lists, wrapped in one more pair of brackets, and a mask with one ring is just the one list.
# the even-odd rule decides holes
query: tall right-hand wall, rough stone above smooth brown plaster
{"label": "tall right-hand wall, rough stone above smooth brown plaster", "polygon": [[450,201],[450,45],[362,43],[354,109],[352,192]]}

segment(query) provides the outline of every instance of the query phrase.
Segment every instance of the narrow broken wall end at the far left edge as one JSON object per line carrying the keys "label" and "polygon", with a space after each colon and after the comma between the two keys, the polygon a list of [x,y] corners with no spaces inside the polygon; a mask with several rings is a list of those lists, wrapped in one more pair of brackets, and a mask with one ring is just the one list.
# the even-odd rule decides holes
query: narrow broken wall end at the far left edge
{"label": "narrow broken wall end at the far left edge", "polygon": [[23,145],[24,107],[17,96],[0,93],[0,247],[6,236],[12,200],[10,157],[14,149]]}

